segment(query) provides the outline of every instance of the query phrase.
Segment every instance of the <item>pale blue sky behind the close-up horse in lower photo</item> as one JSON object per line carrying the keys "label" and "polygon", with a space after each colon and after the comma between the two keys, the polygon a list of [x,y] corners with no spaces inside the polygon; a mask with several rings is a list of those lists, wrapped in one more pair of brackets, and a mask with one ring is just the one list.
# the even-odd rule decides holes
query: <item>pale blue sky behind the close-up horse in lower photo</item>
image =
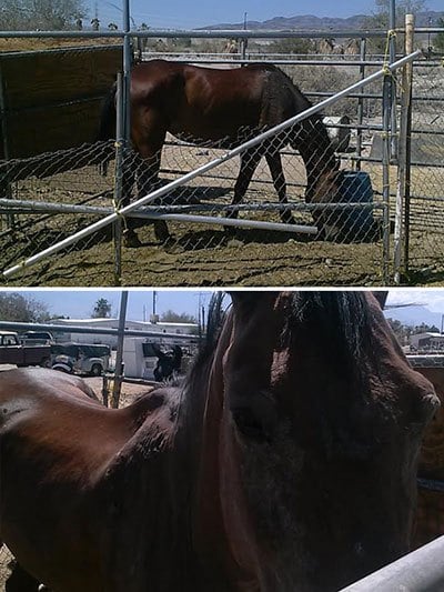
{"label": "pale blue sky behind the close-up horse in lower photo", "polygon": [[[18,290],[11,289],[17,292]],[[105,298],[112,307],[112,315],[118,315],[120,290],[102,289],[39,289],[20,290],[26,297],[43,302],[51,314],[62,314],[71,319],[90,318],[95,302]],[[211,291],[199,290],[157,290],[157,313],[168,310],[186,312],[198,318],[199,305],[208,307]],[[391,290],[387,299],[386,317],[398,319],[406,324],[435,324],[438,329],[444,314],[444,289],[397,289]],[[402,308],[391,308],[398,307]],[[408,304],[405,307],[405,304]],[[153,307],[153,292],[145,289],[129,290],[127,318],[134,321],[149,320]]]}

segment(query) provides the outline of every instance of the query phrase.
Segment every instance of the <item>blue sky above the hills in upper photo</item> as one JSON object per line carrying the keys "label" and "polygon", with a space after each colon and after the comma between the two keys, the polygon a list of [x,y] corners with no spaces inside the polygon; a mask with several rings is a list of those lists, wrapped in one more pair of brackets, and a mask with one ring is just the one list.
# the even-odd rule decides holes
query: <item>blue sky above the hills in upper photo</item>
{"label": "blue sky above the hills in upper photo", "polygon": [[[94,14],[95,6],[100,21],[107,26],[110,21],[121,24],[121,0],[87,0],[90,16]],[[315,14],[316,17],[351,17],[353,14],[372,14],[376,11],[374,1],[367,0],[315,0],[313,2],[294,2],[278,0],[260,2],[258,0],[169,0],[153,2],[149,0],[131,0],[131,14],[137,24],[145,22],[153,29],[193,29],[219,23],[243,22],[248,20],[264,21],[274,17],[294,17],[296,14]],[[442,0],[428,0],[426,8],[443,10]]]}

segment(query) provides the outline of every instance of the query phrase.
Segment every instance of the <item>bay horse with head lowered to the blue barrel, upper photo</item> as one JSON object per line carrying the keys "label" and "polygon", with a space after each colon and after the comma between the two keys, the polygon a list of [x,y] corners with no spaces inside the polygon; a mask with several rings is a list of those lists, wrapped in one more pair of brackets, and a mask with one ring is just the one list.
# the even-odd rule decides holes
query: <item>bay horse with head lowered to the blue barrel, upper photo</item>
{"label": "bay horse with head lowered to the blue barrel, upper photo", "polygon": [[[309,109],[311,102],[282,70],[270,63],[221,70],[165,60],[151,60],[133,67],[130,86],[131,139],[141,157],[138,164],[139,197],[155,188],[162,147],[167,132],[176,138],[205,146],[209,142],[230,149],[254,138]],[[115,84],[103,103],[98,140],[115,138]],[[307,202],[341,200],[339,161],[326,127],[319,114],[312,114],[278,136],[264,140],[241,154],[241,167],[234,185],[232,205],[239,204],[253,173],[264,155],[270,168],[279,201],[287,203],[286,184],[280,150],[286,144],[297,150],[306,169]],[[124,174],[123,204],[129,203],[134,183],[134,159]],[[294,223],[290,209],[281,219]],[[229,211],[231,218],[236,211]],[[334,227],[334,215],[315,211],[313,217],[322,229]],[[130,227],[131,228],[131,227]],[[165,222],[154,224],[157,238],[165,240]],[[330,229],[332,231],[332,229]],[[129,235],[137,244],[137,237]]]}

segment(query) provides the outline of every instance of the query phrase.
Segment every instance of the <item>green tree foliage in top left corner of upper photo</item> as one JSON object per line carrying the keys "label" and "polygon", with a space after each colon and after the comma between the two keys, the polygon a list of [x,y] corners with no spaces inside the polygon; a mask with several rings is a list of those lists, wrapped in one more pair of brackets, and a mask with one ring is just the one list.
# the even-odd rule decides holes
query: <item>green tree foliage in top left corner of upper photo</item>
{"label": "green tree foliage in top left corner of upper photo", "polygon": [[87,16],[83,0],[2,0],[3,30],[64,30]]}

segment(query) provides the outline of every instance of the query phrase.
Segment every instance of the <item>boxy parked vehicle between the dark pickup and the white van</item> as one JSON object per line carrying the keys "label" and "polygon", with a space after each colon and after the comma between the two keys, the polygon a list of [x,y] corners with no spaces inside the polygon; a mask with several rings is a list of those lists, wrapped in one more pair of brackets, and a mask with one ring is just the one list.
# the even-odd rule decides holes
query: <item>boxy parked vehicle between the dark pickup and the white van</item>
{"label": "boxy parked vehicle between the dark pickup and the white van", "polygon": [[51,345],[51,365],[62,372],[100,377],[108,371],[110,358],[109,345],[72,342]]}

